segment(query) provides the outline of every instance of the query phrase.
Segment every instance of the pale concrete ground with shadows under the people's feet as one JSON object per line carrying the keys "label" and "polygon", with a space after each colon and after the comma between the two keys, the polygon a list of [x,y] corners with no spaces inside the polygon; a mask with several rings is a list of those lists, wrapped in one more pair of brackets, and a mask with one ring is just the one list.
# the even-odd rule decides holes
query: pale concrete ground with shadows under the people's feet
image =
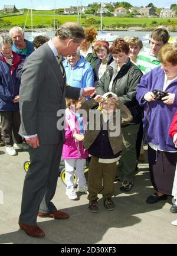
{"label": "pale concrete ground with shadows under the people's feet", "polygon": [[57,209],[69,213],[70,218],[58,221],[38,218],[45,237],[27,236],[18,226],[25,160],[28,160],[27,151],[10,156],[5,153],[5,147],[0,147],[0,244],[177,243],[177,226],[171,225],[177,214],[169,212],[171,197],[154,205],[145,202],[146,197],[154,192],[147,161],[139,164],[140,171],[130,192],[122,193],[120,182],[114,183],[113,211],[104,209],[101,195],[97,213],[89,211],[87,195],[83,193],[79,194],[80,200],[69,200],[58,177],[53,202]]}

